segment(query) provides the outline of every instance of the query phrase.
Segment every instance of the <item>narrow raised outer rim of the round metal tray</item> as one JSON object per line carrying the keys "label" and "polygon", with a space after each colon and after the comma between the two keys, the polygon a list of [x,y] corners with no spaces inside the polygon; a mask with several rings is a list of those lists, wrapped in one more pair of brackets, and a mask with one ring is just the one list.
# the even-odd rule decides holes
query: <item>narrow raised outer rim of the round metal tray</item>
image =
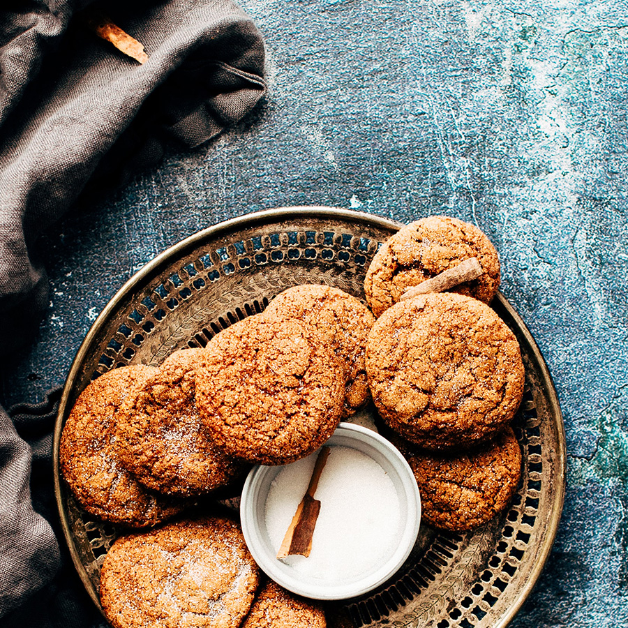
{"label": "narrow raised outer rim of the round metal tray", "polygon": [[[100,606],[100,599],[98,599],[98,595],[94,592],[94,588],[89,579],[86,569],[84,565],[80,561],[78,557],[78,553],[75,546],[75,541],[73,539],[73,535],[70,531],[70,523],[68,521],[68,516],[66,514],[65,508],[63,507],[63,500],[61,494],[61,472],[59,468],[59,444],[61,440],[61,430],[63,428],[63,415],[65,414],[66,406],[68,405],[68,401],[70,398],[70,392],[73,389],[75,384],[75,380],[77,379],[77,374],[80,371],[80,365],[87,354],[87,350],[89,345],[93,339],[98,335],[100,330],[105,326],[109,315],[115,308],[119,305],[119,302],[126,297],[128,292],[132,291],[138,284],[147,281],[151,276],[158,274],[158,270],[162,267],[165,262],[170,260],[172,257],[178,257],[186,252],[188,248],[193,248],[199,241],[202,241],[204,238],[208,236],[216,237],[223,232],[231,232],[232,230],[238,227],[248,227],[253,223],[270,223],[275,220],[283,220],[290,218],[291,216],[311,216],[313,218],[334,218],[336,220],[346,218],[351,221],[364,221],[365,223],[371,223],[372,225],[376,225],[379,227],[384,227],[388,229],[398,230],[403,226],[403,223],[400,223],[396,220],[391,220],[389,218],[384,218],[382,216],[375,216],[372,214],[366,214],[361,211],[354,211],[352,209],[341,209],[336,207],[323,207],[323,206],[295,206],[295,207],[278,207],[276,209],[267,209],[264,211],[257,211],[253,214],[244,214],[243,216],[238,216],[237,218],[231,218],[230,220],[225,220],[222,223],[218,223],[217,225],[213,225],[211,227],[207,227],[207,229],[201,230],[186,239],[179,241],[177,244],[174,244],[167,248],[163,253],[154,257],[150,262],[145,264],[139,271],[137,271],[132,277],[124,283],[124,285],[114,294],[112,299],[107,303],[103,311],[100,312],[94,324],[92,324],[91,328],[87,332],[84,340],[82,341],[80,347],[78,348],[75,357],[73,359],[72,365],[70,366],[70,371],[68,372],[68,377],[66,378],[66,383],[63,386],[63,393],[61,394],[61,401],[59,402],[59,411],[57,413],[57,420],[54,426],[54,435],[53,435],[53,444],[52,444],[52,465],[53,465],[53,474],[54,474],[54,496],[57,501],[57,509],[59,511],[59,518],[61,520],[61,528],[63,529],[63,537],[65,537],[66,544],[68,544],[68,548],[70,549],[70,555],[72,556],[72,561],[74,563],[75,569],[77,570],[80,579],[89,593],[94,604],[102,611],[102,607]],[[530,352],[534,355],[534,359],[537,360],[539,364],[539,372],[541,374],[544,387],[546,389],[546,394],[548,395],[549,400],[549,412],[551,413],[555,425],[558,429],[558,451],[556,452],[558,458],[558,465],[560,469],[560,473],[558,477],[555,478],[555,502],[552,508],[551,519],[548,524],[547,534],[543,540],[543,544],[540,548],[541,558],[534,565],[534,569],[530,572],[530,577],[525,582],[525,585],[518,592],[518,595],[515,597],[513,603],[509,606],[507,611],[502,615],[502,618],[495,624],[495,628],[505,628],[511,620],[514,618],[516,613],[518,613],[519,609],[523,605],[525,599],[528,598],[530,592],[536,585],[541,572],[543,571],[545,564],[548,560],[548,557],[551,552],[551,548],[553,546],[556,534],[558,532],[558,525],[560,523],[560,518],[562,516],[562,509],[565,503],[565,484],[566,484],[566,442],[565,442],[565,426],[562,420],[562,412],[560,410],[560,403],[558,401],[558,394],[556,393],[555,386],[553,384],[553,380],[549,369],[547,367],[546,361],[539,350],[537,343],[534,341],[530,330],[525,325],[521,317],[516,313],[514,308],[511,306],[509,301],[498,292],[495,296],[495,300],[498,301],[501,307],[503,307],[508,314],[513,318],[513,320],[518,325],[518,329],[521,331],[521,335],[525,338],[526,343],[528,343],[530,347]]]}

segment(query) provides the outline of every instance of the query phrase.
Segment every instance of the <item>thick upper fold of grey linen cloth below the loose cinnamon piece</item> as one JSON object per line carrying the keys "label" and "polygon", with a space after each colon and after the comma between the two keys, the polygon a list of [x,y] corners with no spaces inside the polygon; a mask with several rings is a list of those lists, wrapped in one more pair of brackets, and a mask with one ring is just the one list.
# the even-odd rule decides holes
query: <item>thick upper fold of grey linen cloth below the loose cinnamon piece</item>
{"label": "thick upper fold of grey linen cloth below the loose cinnamon piece", "polygon": [[[79,16],[0,128],[4,329],[20,324],[15,304],[19,311],[24,295],[45,283],[33,263],[36,238],[86,186],[124,183],[156,163],[173,140],[189,147],[210,140],[264,94],[262,37],[237,6],[227,0],[142,6],[138,14],[120,3],[110,14],[144,43],[146,63],[96,38]],[[11,334],[3,349],[13,350],[16,340]]]}

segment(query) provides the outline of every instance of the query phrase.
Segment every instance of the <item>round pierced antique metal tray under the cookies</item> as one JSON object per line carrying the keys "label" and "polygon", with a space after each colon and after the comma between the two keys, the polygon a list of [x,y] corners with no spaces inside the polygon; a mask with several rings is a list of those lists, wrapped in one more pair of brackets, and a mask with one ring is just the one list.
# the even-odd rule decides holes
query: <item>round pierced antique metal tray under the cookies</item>
{"label": "round pierced antique metal tray under the cookies", "polygon": [[[249,214],[201,231],[156,257],[98,316],[73,361],[54,433],[54,486],[63,532],[87,592],[98,601],[100,566],[120,534],[73,500],[59,473],[59,438],[80,391],[126,364],[158,365],[260,312],[287,287],[324,283],[364,298],[364,274],[401,225],[327,207]],[[511,507],[481,528],[446,534],[422,526],[398,574],[371,594],[327,609],[330,625],[504,627],[539,578],[565,496],[565,433],[546,364],[501,294],[495,311],[515,332],[526,371],[514,428],[523,477]]]}

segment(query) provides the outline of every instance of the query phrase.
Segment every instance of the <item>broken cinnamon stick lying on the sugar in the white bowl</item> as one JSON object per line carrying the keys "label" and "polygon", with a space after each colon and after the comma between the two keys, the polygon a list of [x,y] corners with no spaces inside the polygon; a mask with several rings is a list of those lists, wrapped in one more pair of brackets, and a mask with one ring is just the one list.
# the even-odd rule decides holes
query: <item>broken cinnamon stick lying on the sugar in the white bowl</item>
{"label": "broken cinnamon stick lying on the sugar in the white bowl", "polygon": [[277,558],[280,560],[292,554],[310,555],[312,536],[318,513],[320,512],[320,501],[314,499],[314,493],[320,480],[320,474],[329,457],[329,451],[329,447],[322,447],[316,458],[307,491],[297,506],[297,511],[292,517],[292,521],[285,532],[285,537],[283,537],[281,542],[281,547],[277,552]]}

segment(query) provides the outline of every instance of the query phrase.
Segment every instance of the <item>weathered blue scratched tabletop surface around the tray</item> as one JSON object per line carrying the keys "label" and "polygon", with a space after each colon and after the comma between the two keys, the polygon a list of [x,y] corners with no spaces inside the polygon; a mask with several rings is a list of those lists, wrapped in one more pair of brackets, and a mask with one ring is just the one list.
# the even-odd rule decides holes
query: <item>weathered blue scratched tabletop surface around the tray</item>
{"label": "weathered blue scratched tabletop surface around the tray", "polygon": [[219,220],[294,204],[469,220],[567,431],[558,538],[512,625],[628,625],[627,2],[242,5],[267,42],[267,100],[47,233],[50,309],[3,400],[61,384],[126,278]]}

